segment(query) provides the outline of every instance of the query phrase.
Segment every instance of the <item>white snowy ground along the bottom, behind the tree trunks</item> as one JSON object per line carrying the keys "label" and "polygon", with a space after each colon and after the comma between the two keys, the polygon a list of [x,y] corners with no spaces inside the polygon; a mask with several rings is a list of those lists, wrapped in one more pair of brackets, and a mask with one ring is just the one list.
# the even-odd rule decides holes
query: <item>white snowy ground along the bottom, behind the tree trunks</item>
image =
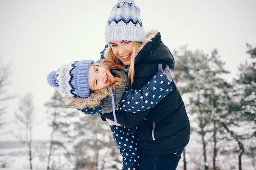
{"label": "white snowy ground along the bottom, behind the tree trunks", "polygon": [[[187,170],[202,170],[203,168],[203,157],[202,157],[202,146],[197,141],[195,135],[191,135],[191,141],[189,145],[186,147],[186,161],[187,161]],[[9,142],[10,143],[10,142]],[[6,143],[5,143],[6,144]],[[29,170],[29,157],[28,157],[28,149],[26,145],[13,144],[10,143],[13,148],[8,147],[7,145],[3,145],[1,142],[0,146],[0,166],[3,163],[6,164],[5,168],[0,168],[0,170]],[[210,150],[210,149],[209,149]],[[32,166],[34,170],[46,170],[47,169],[47,151],[48,149],[43,145],[42,142],[37,142],[34,144],[32,149],[33,160]],[[212,159],[212,153],[209,153],[207,159]],[[65,161],[65,157],[62,154],[55,155],[58,157],[59,162],[63,163]],[[120,156],[121,157],[121,156]],[[211,161],[211,160],[209,160]],[[209,162],[211,167],[212,163]],[[218,154],[216,165],[221,166],[221,170],[238,170],[238,154],[226,154],[220,155]],[[58,165],[56,165],[58,166]],[[121,165],[118,166],[121,169]],[[249,159],[244,154],[242,157],[242,169],[243,170],[255,170],[252,166],[252,159]],[[65,170],[65,169],[62,169]],[[68,169],[66,169],[68,170]],[[84,170],[84,169],[83,169]],[[104,170],[112,170],[112,169],[104,169]],[[180,160],[179,166],[177,170],[183,170],[183,159]]]}

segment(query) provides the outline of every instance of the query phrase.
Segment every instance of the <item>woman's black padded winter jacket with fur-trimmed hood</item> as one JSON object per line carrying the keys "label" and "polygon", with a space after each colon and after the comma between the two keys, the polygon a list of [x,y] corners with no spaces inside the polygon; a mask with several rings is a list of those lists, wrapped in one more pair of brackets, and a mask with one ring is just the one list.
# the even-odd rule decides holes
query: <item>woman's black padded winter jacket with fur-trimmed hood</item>
{"label": "woman's black padded winter jacket with fur-trimmed hood", "polygon": [[[135,58],[133,89],[143,87],[158,71],[158,63],[174,67],[171,51],[164,45],[160,33],[151,33]],[[189,142],[189,118],[185,106],[172,81],[173,90],[155,107],[136,114],[116,111],[117,122],[127,128],[137,125],[139,149],[152,155],[175,153]],[[102,114],[114,120],[112,113]]]}

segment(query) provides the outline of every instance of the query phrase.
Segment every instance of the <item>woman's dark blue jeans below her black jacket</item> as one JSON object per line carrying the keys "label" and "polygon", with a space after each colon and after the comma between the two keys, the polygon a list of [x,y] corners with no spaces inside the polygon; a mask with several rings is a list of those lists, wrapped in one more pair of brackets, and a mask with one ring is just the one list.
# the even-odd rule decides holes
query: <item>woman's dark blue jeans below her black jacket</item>
{"label": "woman's dark blue jeans below her black jacket", "polygon": [[139,170],[175,170],[181,159],[183,150],[164,155],[150,155],[141,152]]}

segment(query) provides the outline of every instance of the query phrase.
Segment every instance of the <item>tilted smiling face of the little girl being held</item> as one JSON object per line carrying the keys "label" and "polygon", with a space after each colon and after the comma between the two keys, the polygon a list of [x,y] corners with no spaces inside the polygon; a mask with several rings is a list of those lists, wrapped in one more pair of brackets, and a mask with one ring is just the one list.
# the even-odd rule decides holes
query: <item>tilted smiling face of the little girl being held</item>
{"label": "tilted smiling face of the little girl being held", "polygon": [[101,90],[110,85],[114,78],[105,67],[90,65],[88,71],[88,86],[91,91]]}

